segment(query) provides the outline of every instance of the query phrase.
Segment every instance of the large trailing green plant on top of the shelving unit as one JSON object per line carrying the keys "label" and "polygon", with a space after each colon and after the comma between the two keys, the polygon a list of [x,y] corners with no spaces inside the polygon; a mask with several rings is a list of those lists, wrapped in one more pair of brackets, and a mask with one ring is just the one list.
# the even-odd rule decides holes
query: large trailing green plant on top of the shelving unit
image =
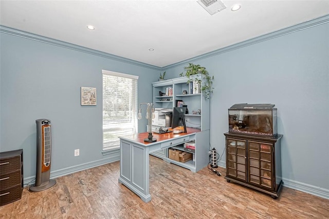
{"label": "large trailing green plant on top of the shelving unit", "polygon": [[[209,75],[209,72],[205,67],[200,65],[195,65],[193,63],[189,63],[188,66],[184,67],[185,72],[181,72],[179,74],[180,77],[186,76],[188,78],[187,83],[189,84],[191,81],[195,81],[199,84],[201,92],[205,94],[205,98],[209,99],[210,94],[213,93],[212,80],[214,77]],[[197,80],[197,78],[193,77],[194,75],[200,74],[203,79],[203,83]]]}

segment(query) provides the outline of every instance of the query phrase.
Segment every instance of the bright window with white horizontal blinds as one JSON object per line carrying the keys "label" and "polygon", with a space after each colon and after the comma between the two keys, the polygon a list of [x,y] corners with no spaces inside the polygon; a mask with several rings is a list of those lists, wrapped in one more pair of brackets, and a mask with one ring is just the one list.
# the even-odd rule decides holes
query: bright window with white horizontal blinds
{"label": "bright window with white horizontal blinds", "polygon": [[118,136],[137,132],[138,76],[102,70],[103,153],[120,149]]}

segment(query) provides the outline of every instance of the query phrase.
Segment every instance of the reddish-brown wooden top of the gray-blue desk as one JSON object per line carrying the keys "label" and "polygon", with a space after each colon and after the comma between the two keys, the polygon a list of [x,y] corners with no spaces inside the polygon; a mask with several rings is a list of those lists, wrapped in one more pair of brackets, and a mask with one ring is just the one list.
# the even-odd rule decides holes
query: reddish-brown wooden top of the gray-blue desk
{"label": "reddish-brown wooden top of the gray-blue desk", "polygon": [[149,136],[149,132],[143,132],[143,133],[136,133],[134,135],[125,135],[125,136],[119,136],[120,139],[125,139],[125,140],[129,140],[129,141],[135,141],[136,143],[139,144],[156,144],[159,141],[166,141],[166,140],[170,140],[172,138],[177,138],[177,137],[181,137],[184,135],[191,135],[197,132],[201,132],[201,130],[199,129],[194,129],[194,128],[190,128],[187,127],[186,128],[187,133],[173,133],[173,132],[168,132],[168,133],[164,133],[164,134],[157,134],[157,133],[152,133],[153,138],[156,138],[157,141],[156,142],[144,142],[145,138],[148,138]]}

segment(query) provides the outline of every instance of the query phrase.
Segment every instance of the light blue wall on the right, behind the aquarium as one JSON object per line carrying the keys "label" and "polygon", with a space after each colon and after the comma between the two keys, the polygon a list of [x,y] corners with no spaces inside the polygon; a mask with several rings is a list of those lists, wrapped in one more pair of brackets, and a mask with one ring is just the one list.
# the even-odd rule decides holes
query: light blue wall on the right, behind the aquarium
{"label": "light blue wall on the right, behind the aquarium", "polygon": [[[210,143],[219,154],[230,106],[275,104],[284,186],[329,198],[329,16],[189,61],[215,77]],[[178,77],[184,66],[168,66],[168,77]],[[221,166],[225,159],[224,153]]]}

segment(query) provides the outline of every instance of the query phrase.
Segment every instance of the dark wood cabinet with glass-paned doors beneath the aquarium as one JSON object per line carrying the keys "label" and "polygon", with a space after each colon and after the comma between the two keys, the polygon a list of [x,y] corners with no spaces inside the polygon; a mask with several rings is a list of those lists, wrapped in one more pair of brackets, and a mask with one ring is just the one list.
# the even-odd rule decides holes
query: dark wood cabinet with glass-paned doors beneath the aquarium
{"label": "dark wood cabinet with glass-paned doors beneath the aquarium", "polygon": [[225,133],[226,180],[270,194],[282,190],[282,135],[273,138]]}

